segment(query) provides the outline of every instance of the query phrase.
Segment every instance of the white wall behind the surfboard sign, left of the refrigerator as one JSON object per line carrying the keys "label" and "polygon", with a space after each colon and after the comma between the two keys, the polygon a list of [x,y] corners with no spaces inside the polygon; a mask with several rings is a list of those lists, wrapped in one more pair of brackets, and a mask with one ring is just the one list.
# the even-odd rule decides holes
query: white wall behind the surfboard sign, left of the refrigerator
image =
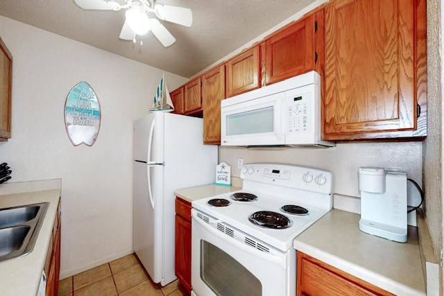
{"label": "white wall behind the surfboard sign, left of the refrigerator", "polygon": [[[0,161],[10,182],[62,178],[61,277],[129,254],[133,119],[148,112],[162,71],[6,17],[0,37],[13,56],[12,138],[0,142]],[[165,78],[169,89],[187,81]],[[101,104],[92,147],[74,147],[65,130],[65,100],[80,81]]]}

